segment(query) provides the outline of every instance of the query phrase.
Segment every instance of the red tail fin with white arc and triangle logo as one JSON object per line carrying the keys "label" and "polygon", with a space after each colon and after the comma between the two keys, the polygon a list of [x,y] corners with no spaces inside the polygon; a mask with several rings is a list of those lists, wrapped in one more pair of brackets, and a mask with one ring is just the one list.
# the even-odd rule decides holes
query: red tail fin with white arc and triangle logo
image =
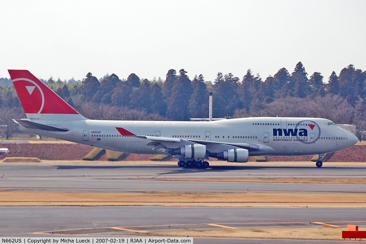
{"label": "red tail fin with white arc and triangle logo", "polygon": [[[77,119],[74,108],[27,70],[8,70],[29,119]],[[48,116],[46,116],[48,115]],[[55,115],[55,116],[51,116]],[[62,115],[62,116],[60,116]],[[65,115],[79,115],[66,116]],[[79,118],[80,119],[80,118]]]}

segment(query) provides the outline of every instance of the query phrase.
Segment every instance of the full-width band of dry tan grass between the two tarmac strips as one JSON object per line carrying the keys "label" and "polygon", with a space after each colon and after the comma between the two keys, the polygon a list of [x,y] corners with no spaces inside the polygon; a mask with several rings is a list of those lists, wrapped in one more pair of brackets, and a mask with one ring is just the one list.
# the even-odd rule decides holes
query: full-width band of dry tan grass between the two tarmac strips
{"label": "full-width band of dry tan grass between the two tarmac strips", "polygon": [[1,191],[0,206],[366,207],[366,194],[341,193],[66,193]]}

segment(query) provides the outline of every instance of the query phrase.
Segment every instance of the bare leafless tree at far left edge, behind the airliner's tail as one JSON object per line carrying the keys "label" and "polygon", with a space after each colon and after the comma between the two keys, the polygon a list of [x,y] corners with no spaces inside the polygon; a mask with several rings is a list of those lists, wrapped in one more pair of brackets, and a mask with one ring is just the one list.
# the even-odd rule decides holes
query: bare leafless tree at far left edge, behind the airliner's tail
{"label": "bare leafless tree at far left edge, behind the airliner's tail", "polygon": [[25,117],[23,109],[0,108],[0,130],[7,140],[18,130],[18,125],[12,119],[22,119],[23,117]]}

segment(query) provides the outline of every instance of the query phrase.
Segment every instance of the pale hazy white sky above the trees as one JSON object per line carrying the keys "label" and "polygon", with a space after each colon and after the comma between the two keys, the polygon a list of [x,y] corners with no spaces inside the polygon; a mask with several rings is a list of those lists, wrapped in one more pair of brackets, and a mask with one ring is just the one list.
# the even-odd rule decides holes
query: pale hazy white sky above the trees
{"label": "pale hazy white sky above the trees", "polygon": [[0,77],[366,70],[366,1],[3,1]]}

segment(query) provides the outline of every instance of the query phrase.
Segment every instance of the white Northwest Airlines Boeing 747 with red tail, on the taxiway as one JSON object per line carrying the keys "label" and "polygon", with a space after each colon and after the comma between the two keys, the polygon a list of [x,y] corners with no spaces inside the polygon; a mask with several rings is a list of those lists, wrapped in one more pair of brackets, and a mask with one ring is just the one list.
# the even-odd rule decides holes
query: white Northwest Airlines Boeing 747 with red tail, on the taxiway
{"label": "white Northwest Airlines Boeing 747 with red tail, on the taxiway", "polygon": [[209,157],[247,162],[249,156],[314,155],[346,149],[357,137],[328,119],[251,117],[216,121],[90,120],[27,70],[9,70],[27,119],[21,131],[123,153],[165,154],[181,167]]}

